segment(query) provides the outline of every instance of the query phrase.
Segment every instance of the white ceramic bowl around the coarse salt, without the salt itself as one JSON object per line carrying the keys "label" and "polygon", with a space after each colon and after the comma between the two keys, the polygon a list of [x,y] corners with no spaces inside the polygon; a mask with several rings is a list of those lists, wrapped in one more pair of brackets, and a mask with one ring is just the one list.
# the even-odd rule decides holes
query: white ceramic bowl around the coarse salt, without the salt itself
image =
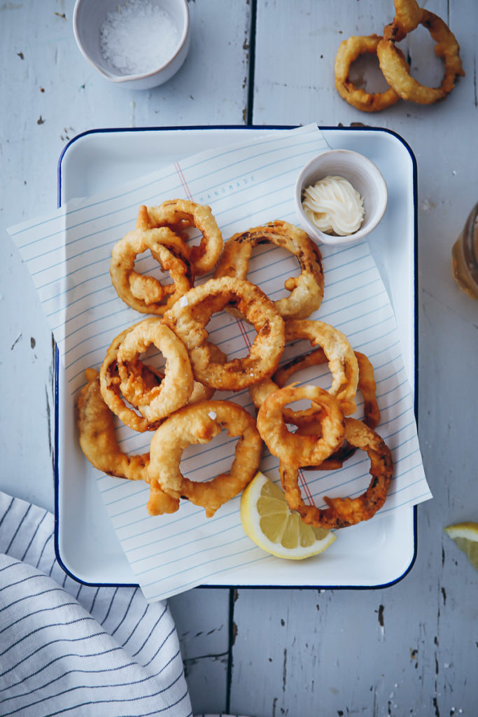
{"label": "white ceramic bowl around the coarse salt, without the salt itself", "polygon": [[[118,11],[118,7],[128,0],[77,0],[73,11],[73,32],[82,54],[103,77],[111,82],[123,83],[131,90],[150,90],[163,85],[173,77],[186,60],[189,49],[189,10],[187,0],[150,0],[165,11],[178,29],[178,44],[163,62],[150,72],[141,75],[121,75],[115,67],[103,57],[100,47],[100,27],[108,12]],[[158,38],[161,42],[161,38]]]}

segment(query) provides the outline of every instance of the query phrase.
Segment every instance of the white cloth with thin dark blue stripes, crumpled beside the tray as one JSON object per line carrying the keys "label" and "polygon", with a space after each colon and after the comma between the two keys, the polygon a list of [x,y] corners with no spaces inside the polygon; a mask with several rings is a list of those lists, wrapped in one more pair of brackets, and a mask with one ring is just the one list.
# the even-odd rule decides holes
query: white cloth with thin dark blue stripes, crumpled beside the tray
{"label": "white cloth with thin dark blue stripes, crumpled beside the tray", "polygon": [[0,714],[191,716],[168,604],[71,579],[54,556],[52,514],[4,493]]}

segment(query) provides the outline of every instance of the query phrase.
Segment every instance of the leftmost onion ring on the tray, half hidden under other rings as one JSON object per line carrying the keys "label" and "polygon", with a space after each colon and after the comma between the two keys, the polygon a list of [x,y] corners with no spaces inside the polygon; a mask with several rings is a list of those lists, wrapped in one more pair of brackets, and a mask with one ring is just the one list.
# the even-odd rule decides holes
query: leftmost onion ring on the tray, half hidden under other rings
{"label": "leftmost onion ring on the tray, half hidden under other rings", "polygon": [[[87,384],[78,399],[78,428],[80,446],[87,460],[102,473],[128,480],[149,482],[147,468],[149,453],[127,455],[120,450],[116,440],[113,413],[102,399],[97,371],[85,371]],[[178,510],[179,501],[161,491],[156,495],[158,508],[163,513]]]}

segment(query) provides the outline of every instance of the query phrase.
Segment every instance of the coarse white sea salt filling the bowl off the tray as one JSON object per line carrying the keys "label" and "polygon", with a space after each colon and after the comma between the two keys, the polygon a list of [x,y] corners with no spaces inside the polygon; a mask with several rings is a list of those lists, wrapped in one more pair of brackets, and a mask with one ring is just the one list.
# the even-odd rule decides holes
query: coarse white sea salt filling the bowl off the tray
{"label": "coarse white sea salt filling the bowl off the tray", "polygon": [[169,15],[149,0],[128,0],[108,12],[100,27],[101,53],[121,75],[146,75],[162,67],[179,44]]}

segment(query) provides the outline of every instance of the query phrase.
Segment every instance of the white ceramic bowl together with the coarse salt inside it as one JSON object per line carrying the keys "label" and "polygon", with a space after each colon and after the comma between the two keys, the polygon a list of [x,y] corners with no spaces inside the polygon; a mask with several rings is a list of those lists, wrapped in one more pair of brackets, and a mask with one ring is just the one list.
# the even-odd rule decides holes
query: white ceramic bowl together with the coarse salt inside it
{"label": "white ceramic bowl together with the coarse salt inside it", "polygon": [[73,32],[103,77],[132,90],[163,85],[189,49],[187,0],[77,0]]}

